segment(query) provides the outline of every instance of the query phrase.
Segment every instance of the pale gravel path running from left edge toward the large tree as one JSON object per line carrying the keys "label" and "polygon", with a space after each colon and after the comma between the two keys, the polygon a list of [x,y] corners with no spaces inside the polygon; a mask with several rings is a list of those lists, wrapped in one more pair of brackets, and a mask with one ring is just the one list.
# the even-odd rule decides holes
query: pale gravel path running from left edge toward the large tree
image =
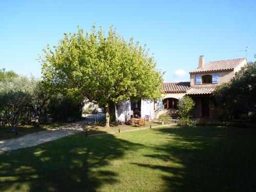
{"label": "pale gravel path running from left edge toward the large tree", "polygon": [[[96,115],[87,115],[86,120],[84,121],[70,123],[68,125],[57,127],[56,129],[32,133],[16,139],[0,140],[0,153],[17,150],[18,148],[35,146],[81,132],[86,129],[86,126],[84,125],[89,126],[95,121],[95,116]],[[98,115],[98,119],[103,118],[103,116],[104,115]]]}

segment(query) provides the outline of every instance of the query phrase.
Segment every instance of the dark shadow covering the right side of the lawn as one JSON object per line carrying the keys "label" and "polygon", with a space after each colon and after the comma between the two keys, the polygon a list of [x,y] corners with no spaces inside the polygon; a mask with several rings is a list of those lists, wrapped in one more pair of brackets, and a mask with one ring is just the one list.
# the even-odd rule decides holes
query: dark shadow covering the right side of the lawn
{"label": "dark shadow covering the right side of the lawn", "polygon": [[[145,157],[172,165],[133,163],[166,173],[167,191],[254,191],[256,131],[251,129],[184,127],[154,130],[172,136]],[[154,161],[153,161],[154,162]]]}

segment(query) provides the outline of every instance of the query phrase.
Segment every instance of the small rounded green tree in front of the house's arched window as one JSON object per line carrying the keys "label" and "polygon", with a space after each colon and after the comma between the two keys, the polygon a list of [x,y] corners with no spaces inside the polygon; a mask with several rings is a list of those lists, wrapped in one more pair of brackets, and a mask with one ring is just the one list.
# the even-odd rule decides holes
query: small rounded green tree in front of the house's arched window
{"label": "small rounded green tree in front of the house's arched window", "polygon": [[178,115],[182,120],[188,120],[191,117],[191,113],[194,109],[195,101],[189,96],[184,96],[179,99],[178,103]]}

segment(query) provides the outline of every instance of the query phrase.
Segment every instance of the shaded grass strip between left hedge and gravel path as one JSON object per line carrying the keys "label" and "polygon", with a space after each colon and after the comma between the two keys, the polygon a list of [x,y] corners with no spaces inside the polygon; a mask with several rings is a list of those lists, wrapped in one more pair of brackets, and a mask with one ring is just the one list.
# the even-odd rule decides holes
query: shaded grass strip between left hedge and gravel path
{"label": "shaded grass strip between left hedge and gravel path", "polygon": [[[17,137],[22,137],[27,134],[36,133],[40,131],[46,131],[48,129],[53,129],[60,126],[60,123],[50,123],[50,124],[40,124],[40,126],[33,125],[20,125],[17,126],[17,135],[15,132],[11,132],[11,128],[8,126],[0,127],[0,140],[13,139]],[[63,124],[62,124],[63,125]]]}

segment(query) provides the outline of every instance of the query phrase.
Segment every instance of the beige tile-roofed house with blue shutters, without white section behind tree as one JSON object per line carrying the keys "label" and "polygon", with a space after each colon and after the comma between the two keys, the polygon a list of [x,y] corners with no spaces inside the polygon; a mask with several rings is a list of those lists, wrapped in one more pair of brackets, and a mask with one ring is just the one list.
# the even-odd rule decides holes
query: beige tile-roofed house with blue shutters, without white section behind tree
{"label": "beige tile-roofed house with blue shutters, without white section behind tree", "polygon": [[178,99],[184,95],[195,103],[194,117],[219,118],[216,100],[212,93],[220,84],[230,81],[242,67],[247,65],[246,58],[211,61],[204,63],[199,57],[198,68],[189,72],[190,82],[164,82],[163,100],[158,102],[156,116],[177,109]]}

